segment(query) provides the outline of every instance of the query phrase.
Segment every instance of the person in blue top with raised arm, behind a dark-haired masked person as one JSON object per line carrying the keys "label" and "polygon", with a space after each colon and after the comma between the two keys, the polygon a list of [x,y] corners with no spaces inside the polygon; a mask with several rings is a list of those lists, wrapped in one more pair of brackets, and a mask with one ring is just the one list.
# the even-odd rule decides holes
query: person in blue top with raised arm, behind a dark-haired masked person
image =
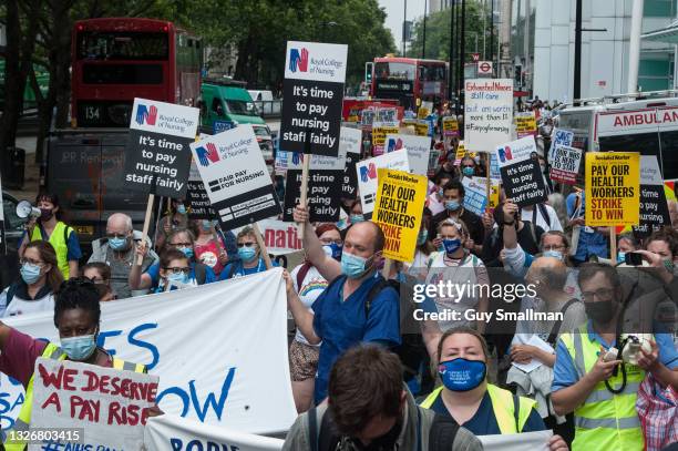
{"label": "person in blue top with raised arm, behind a dark-haired masked person", "polygon": [[[186,228],[177,228],[167,237],[167,243],[165,245],[165,249],[163,253],[161,253],[161,258],[162,254],[164,254],[167,249],[177,249],[188,259],[188,264],[191,266],[188,279],[195,280],[196,285],[212,284],[213,281],[216,281],[217,278],[210,267],[195,262],[195,253],[193,249],[194,243],[195,238],[193,237],[193,233],[191,230]],[[137,255],[145,256],[147,252],[148,248],[146,246],[142,244],[137,245]],[[144,274],[141,274],[141,267],[138,265],[133,265],[129,278],[130,288],[133,290],[151,289],[155,291],[161,281],[160,273],[160,262],[153,264]]]}

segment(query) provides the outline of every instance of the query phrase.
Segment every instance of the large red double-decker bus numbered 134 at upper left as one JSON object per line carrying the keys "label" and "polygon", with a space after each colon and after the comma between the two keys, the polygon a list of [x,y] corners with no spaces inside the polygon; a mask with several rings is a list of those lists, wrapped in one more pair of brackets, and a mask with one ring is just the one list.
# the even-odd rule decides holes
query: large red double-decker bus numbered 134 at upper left
{"label": "large red double-decker bus numbered 134 at upper left", "polygon": [[73,28],[72,117],[79,127],[126,127],[134,98],[195,105],[199,39],[155,19],[81,20]]}

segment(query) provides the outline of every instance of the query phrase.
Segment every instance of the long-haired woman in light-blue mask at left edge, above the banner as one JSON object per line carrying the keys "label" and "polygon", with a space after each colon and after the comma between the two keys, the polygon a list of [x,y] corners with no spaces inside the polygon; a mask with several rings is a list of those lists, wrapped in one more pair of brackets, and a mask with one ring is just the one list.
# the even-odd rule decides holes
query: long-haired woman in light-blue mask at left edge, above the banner
{"label": "long-haired woman in light-blue mask at left edge, above the banner", "polygon": [[0,317],[32,314],[54,308],[54,291],[63,281],[56,252],[49,242],[31,242],[20,260],[19,280],[0,294]]}

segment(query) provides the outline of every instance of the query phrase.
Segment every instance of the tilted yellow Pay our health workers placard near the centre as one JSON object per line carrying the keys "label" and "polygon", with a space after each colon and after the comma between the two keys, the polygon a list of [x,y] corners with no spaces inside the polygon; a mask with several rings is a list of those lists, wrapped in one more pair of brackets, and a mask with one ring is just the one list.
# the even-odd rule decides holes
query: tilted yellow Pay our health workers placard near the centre
{"label": "tilted yellow Pay our health workers placard near the centre", "polygon": [[378,170],[378,177],[372,221],[386,236],[383,256],[412,262],[427,199],[427,177],[383,168]]}

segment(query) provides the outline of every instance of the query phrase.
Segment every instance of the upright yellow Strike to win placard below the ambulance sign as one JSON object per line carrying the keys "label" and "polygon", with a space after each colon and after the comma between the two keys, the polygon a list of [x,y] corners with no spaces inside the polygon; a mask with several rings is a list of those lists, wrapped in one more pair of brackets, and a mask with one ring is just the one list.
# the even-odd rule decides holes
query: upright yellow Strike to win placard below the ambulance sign
{"label": "upright yellow Strike to win placard below the ambulance sign", "polygon": [[589,227],[638,225],[640,156],[633,152],[587,152],[585,222]]}

